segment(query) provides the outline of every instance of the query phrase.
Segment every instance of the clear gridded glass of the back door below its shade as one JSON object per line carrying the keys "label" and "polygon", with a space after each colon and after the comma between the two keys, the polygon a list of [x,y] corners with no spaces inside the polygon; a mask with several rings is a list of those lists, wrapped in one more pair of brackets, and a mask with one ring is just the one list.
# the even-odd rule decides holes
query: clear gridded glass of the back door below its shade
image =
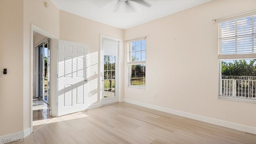
{"label": "clear gridded glass of the back door below its shade", "polygon": [[104,55],[104,98],[116,96],[116,57]]}

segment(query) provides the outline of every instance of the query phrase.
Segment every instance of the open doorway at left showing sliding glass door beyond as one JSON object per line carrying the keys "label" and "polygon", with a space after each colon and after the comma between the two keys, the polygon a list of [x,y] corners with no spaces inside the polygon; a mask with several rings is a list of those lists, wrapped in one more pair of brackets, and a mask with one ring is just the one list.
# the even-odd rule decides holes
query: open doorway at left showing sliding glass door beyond
{"label": "open doorway at left showing sliding glass door beyond", "polygon": [[[33,33],[33,126],[50,116],[50,38]],[[42,123],[42,122],[40,122]]]}

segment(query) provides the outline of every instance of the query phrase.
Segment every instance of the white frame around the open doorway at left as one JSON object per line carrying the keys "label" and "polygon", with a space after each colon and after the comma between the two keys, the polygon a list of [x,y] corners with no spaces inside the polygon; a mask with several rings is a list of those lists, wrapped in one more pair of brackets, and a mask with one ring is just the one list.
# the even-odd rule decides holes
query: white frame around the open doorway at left
{"label": "white frame around the open doorway at left", "polygon": [[50,41],[50,48],[51,48],[51,61],[50,61],[50,95],[52,96],[51,100],[51,112],[52,116],[57,116],[57,64],[58,64],[58,37],[54,36],[53,34],[50,34],[43,30],[42,28],[39,28],[38,26],[31,24],[31,31],[30,31],[30,112],[31,112],[31,118],[30,118],[30,133],[33,132],[33,55],[34,55],[34,45],[33,45],[33,32],[37,32],[39,34],[42,34],[43,36],[46,36],[51,39]]}

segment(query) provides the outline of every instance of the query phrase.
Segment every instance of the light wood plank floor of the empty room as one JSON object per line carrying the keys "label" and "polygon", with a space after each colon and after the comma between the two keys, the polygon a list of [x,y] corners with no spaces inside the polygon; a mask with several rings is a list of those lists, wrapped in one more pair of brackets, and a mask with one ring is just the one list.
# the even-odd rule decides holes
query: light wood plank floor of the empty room
{"label": "light wood plank floor of the empty room", "polygon": [[125,102],[52,118],[24,144],[256,144],[256,135]]}

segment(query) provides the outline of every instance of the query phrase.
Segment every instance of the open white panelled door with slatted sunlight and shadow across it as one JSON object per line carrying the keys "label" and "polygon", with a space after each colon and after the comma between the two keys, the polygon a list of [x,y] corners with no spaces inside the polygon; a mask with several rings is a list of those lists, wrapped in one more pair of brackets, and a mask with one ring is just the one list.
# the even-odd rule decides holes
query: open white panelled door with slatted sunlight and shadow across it
{"label": "open white panelled door with slatted sunlight and shadow across it", "polygon": [[58,116],[86,110],[86,45],[59,40],[58,51]]}

